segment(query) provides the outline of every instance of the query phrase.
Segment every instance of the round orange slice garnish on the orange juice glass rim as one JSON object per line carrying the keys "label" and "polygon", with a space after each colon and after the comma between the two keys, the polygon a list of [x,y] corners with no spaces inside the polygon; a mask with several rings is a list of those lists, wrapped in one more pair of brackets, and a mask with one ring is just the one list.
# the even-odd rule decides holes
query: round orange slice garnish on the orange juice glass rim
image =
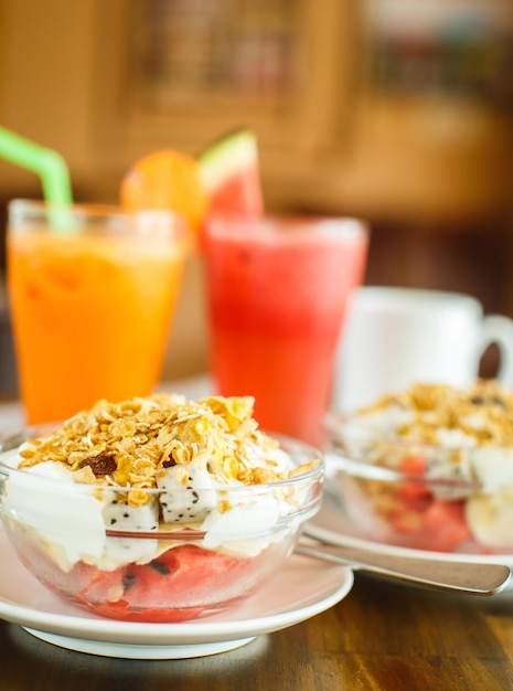
{"label": "round orange slice garnish on the orange juice glass rim", "polygon": [[199,163],[173,149],[154,151],[133,163],[121,180],[120,202],[129,211],[174,211],[194,232],[201,226],[209,205]]}

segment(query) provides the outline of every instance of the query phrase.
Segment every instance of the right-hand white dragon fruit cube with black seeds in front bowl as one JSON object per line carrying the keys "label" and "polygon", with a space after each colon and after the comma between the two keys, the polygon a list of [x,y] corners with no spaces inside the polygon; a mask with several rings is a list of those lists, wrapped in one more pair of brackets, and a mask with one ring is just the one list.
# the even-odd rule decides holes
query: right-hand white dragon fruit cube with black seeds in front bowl
{"label": "right-hand white dragon fruit cube with black seeds in front bowl", "polygon": [[[186,474],[186,475],[185,475]],[[194,461],[184,466],[171,466],[157,478],[161,491],[160,506],[165,523],[201,521],[217,506],[216,483],[206,468]]]}

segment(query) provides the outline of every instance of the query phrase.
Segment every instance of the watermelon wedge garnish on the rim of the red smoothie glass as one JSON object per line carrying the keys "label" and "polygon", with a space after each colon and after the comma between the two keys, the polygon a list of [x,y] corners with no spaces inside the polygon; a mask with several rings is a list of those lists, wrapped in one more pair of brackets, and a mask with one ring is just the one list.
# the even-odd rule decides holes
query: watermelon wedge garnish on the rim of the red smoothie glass
{"label": "watermelon wedge garnish on the rim of the red smoothie glass", "polygon": [[216,139],[197,156],[209,196],[209,215],[260,216],[264,212],[255,132],[237,129]]}

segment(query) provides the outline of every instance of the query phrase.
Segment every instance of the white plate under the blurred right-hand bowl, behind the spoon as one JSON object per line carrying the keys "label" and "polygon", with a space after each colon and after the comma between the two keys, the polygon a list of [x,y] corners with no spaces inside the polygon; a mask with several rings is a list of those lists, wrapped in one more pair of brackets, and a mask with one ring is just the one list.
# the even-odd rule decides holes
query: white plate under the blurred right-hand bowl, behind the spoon
{"label": "white plate under the blurred right-hand bowl, behind the spoon", "polygon": [[[335,497],[324,492],[322,506],[312,521],[306,528],[309,535],[323,542],[331,542],[339,545],[371,549],[386,554],[402,556],[423,556],[423,559],[434,559],[445,562],[480,562],[483,564],[505,564],[513,568],[513,554],[463,554],[461,552],[431,552],[429,550],[414,550],[412,548],[400,548],[384,542],[374,542],[363,536],[357,525],[354,524],[342,511]],[[513,592],[513,585],[506,591]]]}

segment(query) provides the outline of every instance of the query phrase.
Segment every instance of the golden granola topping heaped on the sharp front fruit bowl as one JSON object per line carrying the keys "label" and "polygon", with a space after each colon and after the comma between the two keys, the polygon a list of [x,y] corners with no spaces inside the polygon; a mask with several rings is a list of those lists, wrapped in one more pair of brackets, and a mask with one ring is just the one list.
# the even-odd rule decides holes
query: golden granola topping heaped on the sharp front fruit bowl
{"label": "golden granola topping heaped on the sharp front fruit bowl", "polygon": [[[168,468],[186,486],[194,465],[220,482],[258,485],[289,477],[279,444],[257,428],[250,396],[199,402],[156,394],[121,403],[100,401],[53,434],[30,439],[19,468],[67,465],[77,482],[151,489]],[[293,469],[298,472],[298,469]]]}

